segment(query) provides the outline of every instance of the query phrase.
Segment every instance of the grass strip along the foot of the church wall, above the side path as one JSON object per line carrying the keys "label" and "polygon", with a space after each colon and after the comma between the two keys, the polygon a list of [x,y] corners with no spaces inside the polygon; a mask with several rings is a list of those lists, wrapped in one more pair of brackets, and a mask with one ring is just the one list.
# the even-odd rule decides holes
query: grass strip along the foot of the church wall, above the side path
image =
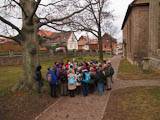
{"label": "grass strip along the foot of the church wall, above the side path", "polygon": [[145,73],[142,69],[130,64],[126,59],[123,59],[120,62],[118,78],[122,80],[160,80],[160,71],[149,70],[149,72]]}

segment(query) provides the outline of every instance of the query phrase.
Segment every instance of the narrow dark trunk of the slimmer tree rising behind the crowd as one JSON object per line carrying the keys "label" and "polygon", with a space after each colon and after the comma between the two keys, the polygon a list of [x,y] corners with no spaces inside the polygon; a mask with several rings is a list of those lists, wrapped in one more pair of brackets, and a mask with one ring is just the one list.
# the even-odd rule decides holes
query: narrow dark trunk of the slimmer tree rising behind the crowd
{"label": "narrow dark trunk of the slimmer tree rising behind the crowd", "polygon": [[103,64],[103,46],[102,46],[102,37],[98,37],[99,41],[99,61]]}

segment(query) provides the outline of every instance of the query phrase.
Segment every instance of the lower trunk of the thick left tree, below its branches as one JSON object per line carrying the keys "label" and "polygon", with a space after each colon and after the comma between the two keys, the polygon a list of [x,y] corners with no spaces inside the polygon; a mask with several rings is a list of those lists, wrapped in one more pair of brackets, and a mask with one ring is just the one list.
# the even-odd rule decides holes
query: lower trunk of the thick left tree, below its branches
{"label": "lower trunk of the thick left tree, below its branches", "polygon": [[30,90],[36,89],[36,81],[32,78],[39,62],[39,46],[37,40],[37,30],[25,31],[23,43],[23,84]]}

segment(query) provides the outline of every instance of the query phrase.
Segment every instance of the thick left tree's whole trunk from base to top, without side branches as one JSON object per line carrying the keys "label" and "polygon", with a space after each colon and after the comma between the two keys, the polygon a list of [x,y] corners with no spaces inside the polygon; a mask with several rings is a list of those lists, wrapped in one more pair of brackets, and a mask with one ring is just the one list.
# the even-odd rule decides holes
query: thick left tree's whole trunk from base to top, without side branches
{"label": "thick left tree's whole trunk from base to top, without side branches", "polygon": [[22,55],[23,55],[23,76],[19,88],[36,90],[37,82],[33,79],[36,67],[40,64],[39,60],[39,41],[38,41],[38,18],[33,15],[35,1],[20,0],[20,3],[27,13],[22,14]]}

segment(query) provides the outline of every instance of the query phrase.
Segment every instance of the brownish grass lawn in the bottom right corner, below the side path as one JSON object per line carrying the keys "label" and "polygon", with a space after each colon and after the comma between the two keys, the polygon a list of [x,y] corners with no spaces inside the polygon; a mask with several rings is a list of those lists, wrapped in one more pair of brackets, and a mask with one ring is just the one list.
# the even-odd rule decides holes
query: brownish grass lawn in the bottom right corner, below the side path
{"label": "brownish grass lawn in the bottom right corner, below the side path", "polygon": [[159,93],[159,87],[114,91],[103,120],[160,120]]}

